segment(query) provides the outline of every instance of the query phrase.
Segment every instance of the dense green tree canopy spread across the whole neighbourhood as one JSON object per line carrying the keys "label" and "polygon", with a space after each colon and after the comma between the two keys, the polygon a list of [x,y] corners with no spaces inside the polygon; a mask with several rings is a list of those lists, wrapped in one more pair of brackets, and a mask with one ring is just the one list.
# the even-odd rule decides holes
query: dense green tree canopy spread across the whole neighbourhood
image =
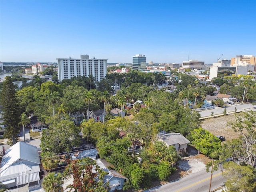
{"label": "dense green tree canopy spread across the whole neighbourhood", "polygon": [[[56,154],[70,152],[80,145],[79,134],[82,132],[84,139],[96,146],[100,157],[108,160],[114,165],[114,169],[121,170],[128,178],[124,189],[148,188],[151,181],[168,180],[174,172],[179,156],[175,148],[167,147],[157,140],[158,133],[162,131],[181,133],[200,152],[216,160],[233,158],[240,166],[255,168],[255,138],[251,136],[255,136],[252,132],[255,128],[252,116],[255,114],[240,116],[238,122],[230,123],[235,131],[241,133],[246,128],[248,135],[244,134],[242,140],[226,142],[223,144],[226,145],[225,148],[220,147],[218,138],[200,128],[199,113],[190,109],[190,103],[195,108],[202,106],[206,95],[214,95],[215,89],[206,83],[201,84],[195,76],[182,73],[175,75],[176,78],[167,79],[162,73],[130,71],[126,74],[109,73],[101,82],[95,82],[93,76],[77,76],[62,82],[58,82],[56,78],[46,82],[35,76],[30,83],[24,82],[21,89],[14,86],[11,78],[7,77],[0,84],[0,104],[7,130],[4,136],[15,144],[19,125],[26,124],[26,118],[30,114],[37,116],[38,120],[49,126],[42,132],[40,147],[42,164],[46,170],[51,170],[56,167]],[[176,90],[158,90],[157,85],[164,82],[175,85]],[[220,86],[220,92],[231,93],[239,99],[244,93],[246,100],[256,97],[255,83],[247,78],[239,83],[234,82],[234,79],[215,78],[213,83]],[[116,87],[120,90],[112,96],[113,88]],[[134,103],[136,100],[141,100],[144,106],[135,103],[133,109],[125,109],[127,103]],[[215,104],[222,106],[222,102],[216,100]],[[110,114],[112,108],[120,108],[133,116],[129,120],[123,115],[114,117]],[[98,109],[106,112],[103,122],[89,119],[90,111]],[[74,124],[78,119],[82,120],[80,126]],[[121,137],[120,131],[125,132],[126,136]],[[139,154],[128,152],[128,148],[133,148],[136,140],[142,143],[143,150]],[[84,165],[82,162],[70,164],[69,171],[80,169],[77,164]],[[91,168],[89,165],[86,167],[88,173]],[[78,190],[86,182],[90,182],[80,180],[79,174],[82,172],[73,174],[77,174],[77,183],[72,186],[74,189]],[[60,178],[62,177],[49,176],[49,180],[58,181]],[[84,183],[82,186],[81,182]],[[94,184],[92,186],[97,187]],[[105,189],[107,186],[102,188]],[[90,191],[91,188],[86,190]]]}

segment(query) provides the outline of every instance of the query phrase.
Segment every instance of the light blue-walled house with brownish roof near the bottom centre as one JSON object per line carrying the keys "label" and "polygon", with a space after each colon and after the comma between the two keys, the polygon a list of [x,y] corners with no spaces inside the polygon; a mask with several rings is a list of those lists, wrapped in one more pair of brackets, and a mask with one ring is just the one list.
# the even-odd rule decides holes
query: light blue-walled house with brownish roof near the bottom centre
{"label": "light blue-walled house with brownish roof near the bottom centre", "polygon": [[120,174],[119,172],[112,170],[113,165],[103,159],[97,159],[96,163],[100,168],[106,171],[108,174],[104,178],[104,184],[109,182],[110,192],[117,190],[121,190],[124,186],[125,180],[128,180],[125,176]]}

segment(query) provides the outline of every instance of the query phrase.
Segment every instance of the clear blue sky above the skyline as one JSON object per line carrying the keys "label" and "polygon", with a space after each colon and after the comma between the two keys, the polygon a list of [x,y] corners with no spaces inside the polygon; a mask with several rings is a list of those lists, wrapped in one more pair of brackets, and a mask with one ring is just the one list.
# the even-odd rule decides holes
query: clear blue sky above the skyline
{"label": "clear blue sky above the skyline", "polygon": [[0,60],[182,63],[256,56],[256,1],[0,0]]}

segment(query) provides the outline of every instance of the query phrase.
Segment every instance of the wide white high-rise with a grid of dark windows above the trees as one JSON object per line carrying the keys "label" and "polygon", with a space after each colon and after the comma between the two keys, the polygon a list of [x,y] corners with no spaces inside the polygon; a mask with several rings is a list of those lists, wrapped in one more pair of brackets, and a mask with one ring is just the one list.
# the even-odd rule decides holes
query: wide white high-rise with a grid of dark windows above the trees
{"label": "wide white high-rise with a grid of dark windows above the trees", "polygon": [[58,58],[59,81],[74,76],[88,77],[90,74],[95,81],[102,80],[107,74],[107,59],[89,59],[88,55],[81,55],[80,59]]}

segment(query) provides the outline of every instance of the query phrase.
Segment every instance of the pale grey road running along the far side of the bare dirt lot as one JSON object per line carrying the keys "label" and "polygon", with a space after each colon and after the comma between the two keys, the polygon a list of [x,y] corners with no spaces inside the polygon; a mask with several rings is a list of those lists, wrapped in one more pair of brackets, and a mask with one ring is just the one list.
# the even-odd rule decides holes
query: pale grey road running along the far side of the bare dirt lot
{"label": "pale grey road running along the far side of the bare dirt lot", "polygon": [[[251,103],[246,103],[246,104],[241,104],[241,103],[235,103],[235,104],[228,104],[226,106],[226,110],[227,110],[227,114],[229,113],[234,113],[235,112],[235,108],[237,111],[246,111],[246,110],[255,110],[254,109],[255,105],[251,104]],[[222,115],[223,114],[223,110],[225,108],[222,107],[215,107],[215,109],[208,109],[208,110],[202,110],[202,111],[198,111],[201,115],[201,118],[204,117],[210,117],[212,114],[212,112],[214,112],[213,115]]]}

